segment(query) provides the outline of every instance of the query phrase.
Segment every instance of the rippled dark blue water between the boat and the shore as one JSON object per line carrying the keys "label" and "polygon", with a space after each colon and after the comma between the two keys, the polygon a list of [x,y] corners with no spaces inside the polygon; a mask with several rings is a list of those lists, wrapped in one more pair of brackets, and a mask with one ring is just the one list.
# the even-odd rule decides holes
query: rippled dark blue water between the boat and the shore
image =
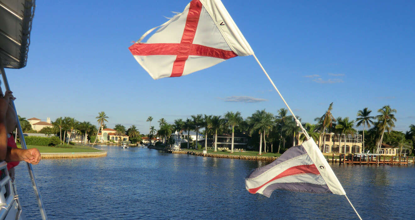
{"label": "rippled dark blue water between the boat and the shore", "polygon": [[[107,157],[44,159],[34,172],[49,219],[354,219],[344,196],[250,194],[262,161],[98,146]],[[413,166],[332,166],[363,219],[414,219]],[[22,175],[19,175],[22,174]],[[40,219],[27,166],[16,170],[27,219]],[[409,195],[409,196],[405,196]]]}

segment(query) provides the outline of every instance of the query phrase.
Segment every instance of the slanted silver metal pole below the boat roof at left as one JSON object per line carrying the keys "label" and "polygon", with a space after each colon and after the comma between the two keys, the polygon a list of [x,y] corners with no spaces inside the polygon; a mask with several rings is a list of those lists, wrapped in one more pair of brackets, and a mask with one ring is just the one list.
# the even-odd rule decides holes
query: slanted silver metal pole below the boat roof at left
{"label": "slanted silver metal pole below the boat roof at left", "polygon": [[[3,64],[2,64],[2,61],[1,61],[1,57],[0,57],[0,73],[1,73],[2,78],[3,78],[3,82],[4,82],[4,86],[6,88],[6,91],[10,90],[9,82],[7,81],[6,72],[4,71]],[[11,104],[12,104],[13,110],[15,111],[15,114],[16,114],[17,132],[19,133],[20,143],[22,144],[22,149],[27,149],[26,142],[24,141],[23,131],[22,131],[22,127],[20,125],[19,117],[17,117],[15,102],[13,100],[11,100]],[[30,163],[26,163],[26,164],[27,164],[27,169],[29,170],[30,180],[32,181],[32,186],[33,186],[33,189],[34,189],[34,193],[36,194],[37,205],[39,206],[40,214],[42,216],[42,219],[46,220],[47,219],[46,212],[45,212],[45,208],[44,208],[43,203],[42,203],[42,199],[41,199],[40,194],[39,194],[39,188],[37,187],[36,178],[34,177],[32,164],[30,164]]]}

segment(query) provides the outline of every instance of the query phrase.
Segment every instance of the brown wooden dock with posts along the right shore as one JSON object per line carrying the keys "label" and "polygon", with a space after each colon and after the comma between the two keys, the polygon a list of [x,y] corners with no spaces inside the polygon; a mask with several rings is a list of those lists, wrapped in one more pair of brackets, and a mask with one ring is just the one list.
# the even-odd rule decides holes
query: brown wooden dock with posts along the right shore
{"label": "brown wooden dock with posts along the right shore", "polygon": [[[362,156],[356,157],[352,154],[346,155],[346,154],[340,154],[341,156],[337,156],[338,158],[335,158],[334,154],[332,154],[331,158],[330,156],[326,156],[327,162],[339,163],[340,164],[350,164],[350,165],[403,165],[408,166],[409,164],[414,165],[415,164],[415,157],[412,157],[412,160],[409,158],[409,156],[392,156],[391,159],[386,159],[386,156],[368,156],[362,159]],[[383,157],[383,158],[382,158]]]}

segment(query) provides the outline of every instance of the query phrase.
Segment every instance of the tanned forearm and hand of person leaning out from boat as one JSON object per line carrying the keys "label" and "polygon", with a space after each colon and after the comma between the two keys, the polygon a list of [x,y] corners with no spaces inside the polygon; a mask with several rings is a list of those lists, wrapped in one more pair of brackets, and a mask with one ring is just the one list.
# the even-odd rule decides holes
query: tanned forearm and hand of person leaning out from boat
{"label": "tanned forearm and hand of person leaning out from boat", "polygon": [[7,147],[7,155],[5,161],[26,161],[30,164],[39,164],[41,155],[38,149],[19,149]]}

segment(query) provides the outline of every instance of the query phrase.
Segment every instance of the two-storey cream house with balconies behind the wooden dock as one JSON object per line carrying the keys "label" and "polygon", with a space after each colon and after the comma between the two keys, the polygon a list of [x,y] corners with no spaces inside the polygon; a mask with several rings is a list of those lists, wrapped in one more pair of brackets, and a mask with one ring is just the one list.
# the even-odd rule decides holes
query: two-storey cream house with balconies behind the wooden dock
{"label": "two-storey cream house with balconies behind the wooden dock", "polygon": [[[300,132],[302,134],[302,132]],[[323,138],[325,145],[323,146]],[[361,134],[334,134],[333,132],[320,137],[320,150],[323,153],[359,154],[362,151]],[[341,142],[340,142],[341,141]],[[315,140],[318,145],[318,140]],[[303,143],[299,140],[298,144]]]}

